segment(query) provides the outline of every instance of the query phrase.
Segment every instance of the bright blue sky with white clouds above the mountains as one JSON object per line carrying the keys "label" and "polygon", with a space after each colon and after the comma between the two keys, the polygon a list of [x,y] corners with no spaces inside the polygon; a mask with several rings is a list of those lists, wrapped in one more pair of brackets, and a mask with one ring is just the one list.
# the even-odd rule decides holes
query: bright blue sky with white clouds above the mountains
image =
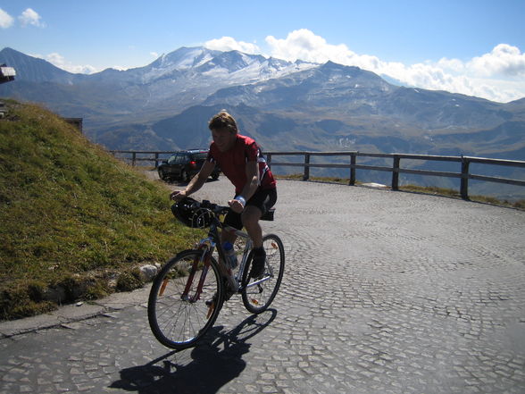
{"label": "bright blue sky with white clouds above the mountains", "polygon": [[72,72],[237,49],[507,102],[525,96],[524,21],[525,0],[0,0],[0,48]]}

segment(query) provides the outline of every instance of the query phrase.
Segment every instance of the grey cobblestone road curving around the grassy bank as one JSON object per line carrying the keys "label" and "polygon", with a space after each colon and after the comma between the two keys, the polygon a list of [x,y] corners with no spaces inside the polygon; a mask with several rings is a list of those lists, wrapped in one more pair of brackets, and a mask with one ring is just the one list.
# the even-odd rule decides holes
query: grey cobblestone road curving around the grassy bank
{"label": "grey cobblestone road curving around the grassy bank", "polygon": [[[221,178],[196,197],[231,192]],[[277,208],[264,229],[287,269],[271,310],[232,298],[179,353],[150,333],[147,289],[56,327],[3,323],[0,393],[525,392],[524,212],[285,180]]]}

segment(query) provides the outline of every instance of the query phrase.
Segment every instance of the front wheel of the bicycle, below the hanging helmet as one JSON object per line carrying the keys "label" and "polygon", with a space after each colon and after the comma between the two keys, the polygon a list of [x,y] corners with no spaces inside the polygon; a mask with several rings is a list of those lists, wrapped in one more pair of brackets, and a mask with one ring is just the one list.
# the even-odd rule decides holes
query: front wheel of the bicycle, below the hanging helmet
{"label": "front wheel of the bicycle, below the hanging helmet", "polygon": [[154,336],[168,348],[190,348],[208,331],[221,310],[223,284],[217,261],[205,264],[203,252],[186,250],[157,274],[147,303]]}

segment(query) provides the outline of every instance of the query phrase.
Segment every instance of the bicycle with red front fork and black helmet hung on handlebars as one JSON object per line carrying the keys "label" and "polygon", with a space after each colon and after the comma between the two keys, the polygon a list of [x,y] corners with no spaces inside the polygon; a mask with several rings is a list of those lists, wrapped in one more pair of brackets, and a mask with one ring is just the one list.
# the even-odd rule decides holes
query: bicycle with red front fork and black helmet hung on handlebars
{"label": "bicycle with red front fork and black helmet hung on handlebars", "polygon": [[[261,314],[270,305],[284,274],[285,252],[282,241],[275,234],[262,238],[266,251],[262,277],[250,278],[253,241],[244,231],[225,225],[223,215],[228,206],[202,203],[186,197],[172,205],[173,214],[189,227],[209,227],[206,238],[196,248],[187,249],[171,258],[154,278],[149,293],[147,315],[154,337],[168,348],[184,349],[196,345],[212,328],[224,302],[240,293],[246,309]],[[273,220],[270,210],[261,220]],[[233,231],[238,269],[231,270],[225,263],[220,231]],[[214,252],[217,252],[217,259]]]}

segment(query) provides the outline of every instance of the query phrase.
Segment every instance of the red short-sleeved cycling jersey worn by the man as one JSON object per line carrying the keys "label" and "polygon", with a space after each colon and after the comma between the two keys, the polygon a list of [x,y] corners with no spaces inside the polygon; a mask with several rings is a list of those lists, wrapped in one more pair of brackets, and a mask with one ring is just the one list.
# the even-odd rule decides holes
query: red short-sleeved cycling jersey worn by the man
{"label": "red short-sleeved cycling jersey worn by the man", "polygon": [[259,163],[259,187],[261,189],[275,189],[276,181],[271,174],[261,149],[254,138],[237,134],[234,146],[227,152],[221,152],[212,142],[207,159],[210,163],[217,163],[221,172],[235,186],[236,194],[240,194],[246,185],[246,163]]}

